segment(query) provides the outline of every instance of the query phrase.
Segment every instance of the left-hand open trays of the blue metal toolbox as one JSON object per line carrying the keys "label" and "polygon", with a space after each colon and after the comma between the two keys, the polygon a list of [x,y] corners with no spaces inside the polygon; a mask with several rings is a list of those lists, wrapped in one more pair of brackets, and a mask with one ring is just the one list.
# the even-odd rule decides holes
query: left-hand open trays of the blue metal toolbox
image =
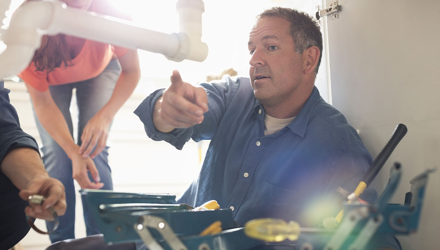
{"label": "left-hand open trays of the blue metal toolbox", "polygon": [[263,243],[244,233],[215,201],[176,204],[165,194],[81,190],[106,243],[142,240],[151,250],[246,250]]}

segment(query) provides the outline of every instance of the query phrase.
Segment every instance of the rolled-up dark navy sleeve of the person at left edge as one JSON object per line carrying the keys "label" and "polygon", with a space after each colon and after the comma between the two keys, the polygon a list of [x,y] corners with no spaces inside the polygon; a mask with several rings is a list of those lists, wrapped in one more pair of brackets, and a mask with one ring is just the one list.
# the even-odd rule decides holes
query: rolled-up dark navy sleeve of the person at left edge
{"label": "rolled-up dark navy sleeve of the person at left edge", "polygon": [[0,162],[13,148],[27,147],[39,152],[37,141],[21,129],[17,111],[9,102],[9,92],[0,81]]}

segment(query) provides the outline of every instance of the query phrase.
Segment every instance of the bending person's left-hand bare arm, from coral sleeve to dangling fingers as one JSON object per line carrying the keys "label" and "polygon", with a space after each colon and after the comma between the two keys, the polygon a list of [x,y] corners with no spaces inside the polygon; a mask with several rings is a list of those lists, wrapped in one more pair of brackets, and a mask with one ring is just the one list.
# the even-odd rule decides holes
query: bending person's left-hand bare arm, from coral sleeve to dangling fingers
{"label": "bending person's left-hand bare arm, from coral sleeve to dangling fingers", "polygon": [[[32,99],[38,120],[40,120],[44,129],[48,131],[51,137],[72,160],[72,177],[78,181],[81,188],[102,188],[104,184],[99,183],[99,173],[98,170],[96,170],[95,164],[90,157],[83,159],[83,157],[78,154],[79,146],[73,141],[66,120],[55,104],[49,89],[44,92],[37,91],[27,83],[26,87]],[[88,179],[88,170],[96,183],[92,183]]]}

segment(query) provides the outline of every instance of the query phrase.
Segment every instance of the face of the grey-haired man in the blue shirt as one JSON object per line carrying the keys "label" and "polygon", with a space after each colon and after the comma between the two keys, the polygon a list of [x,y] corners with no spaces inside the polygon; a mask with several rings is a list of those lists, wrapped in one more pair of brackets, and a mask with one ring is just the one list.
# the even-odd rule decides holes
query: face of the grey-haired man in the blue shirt
{"label": "face of the grey-haired man in the blue shirt", "polygon": [[295,98],[302,80],[302,55],[295,51],[289,26],[283,18],[264,17],[249,33],[249,76],[255,97],[265,106]]}

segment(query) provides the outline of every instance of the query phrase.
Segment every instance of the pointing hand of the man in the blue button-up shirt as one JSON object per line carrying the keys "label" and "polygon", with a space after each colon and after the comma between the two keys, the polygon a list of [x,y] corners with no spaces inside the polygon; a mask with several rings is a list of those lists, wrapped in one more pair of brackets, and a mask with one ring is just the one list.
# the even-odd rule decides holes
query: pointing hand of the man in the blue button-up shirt
{"label": "pointing hand of the man in the blue button-up shirt", "polygon": [[172,72],[171,86],[154,106],[153,122],[161,132],[187,128],[202,123],[208,111],[205,89],[182,81],[177,70]]}

